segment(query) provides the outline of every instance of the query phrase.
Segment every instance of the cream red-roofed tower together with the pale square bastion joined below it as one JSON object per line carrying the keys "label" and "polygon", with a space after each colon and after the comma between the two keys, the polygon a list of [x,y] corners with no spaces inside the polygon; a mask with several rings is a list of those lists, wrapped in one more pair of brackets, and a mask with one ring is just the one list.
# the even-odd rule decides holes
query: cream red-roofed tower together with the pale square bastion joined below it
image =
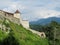
{"label": "cream red-roofed tower together with the pale square bastion joined below it", "polygon": [[20,24],[24,27],[24,28],[29,28],[29,21],[28,20],[23,20],[21,18],[21,13],[16,10],[16,12],[14,13],[14,17],[18,18],[20,20]]}

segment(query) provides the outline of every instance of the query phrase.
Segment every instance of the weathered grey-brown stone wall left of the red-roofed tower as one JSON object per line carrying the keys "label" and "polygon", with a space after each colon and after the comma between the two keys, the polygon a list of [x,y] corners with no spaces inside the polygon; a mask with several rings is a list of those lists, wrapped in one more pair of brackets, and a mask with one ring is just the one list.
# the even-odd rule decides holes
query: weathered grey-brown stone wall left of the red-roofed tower
{"label": "weathered grey-brown stone wall left of the red-roofed tower", "polygon": [[8,14],[7,12],[0,11],[0,19],[7,18],[10,21],[20,24],[20,20],[18,18],[13,17],[13,14]]}

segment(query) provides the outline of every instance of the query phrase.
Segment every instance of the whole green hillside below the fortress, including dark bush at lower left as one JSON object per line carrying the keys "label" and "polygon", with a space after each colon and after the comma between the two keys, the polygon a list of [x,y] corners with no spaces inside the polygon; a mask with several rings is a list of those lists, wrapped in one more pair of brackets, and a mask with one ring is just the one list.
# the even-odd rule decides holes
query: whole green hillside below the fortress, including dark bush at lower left
{"label": "whole green hillside below the fortress, including dark bush at lower left", "polygon": [[9,33],[0,29],[0,45],[49,45],[46,38],[40,38],[21,25],[8,21],[0,21],[0,24],[10,28]]}

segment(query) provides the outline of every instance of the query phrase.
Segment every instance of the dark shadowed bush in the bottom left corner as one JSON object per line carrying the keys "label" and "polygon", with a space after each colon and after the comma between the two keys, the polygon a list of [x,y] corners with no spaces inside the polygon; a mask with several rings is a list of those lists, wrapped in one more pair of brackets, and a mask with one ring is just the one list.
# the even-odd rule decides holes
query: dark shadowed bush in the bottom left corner
{"label": "dark shadowed bush in the bottom left corner", "polygon": [[17,41],[17,39],[15,39],[15,37],[11,34],[8,35],[7,38],[5,38],[1,45],[19,45],[19,42]]}

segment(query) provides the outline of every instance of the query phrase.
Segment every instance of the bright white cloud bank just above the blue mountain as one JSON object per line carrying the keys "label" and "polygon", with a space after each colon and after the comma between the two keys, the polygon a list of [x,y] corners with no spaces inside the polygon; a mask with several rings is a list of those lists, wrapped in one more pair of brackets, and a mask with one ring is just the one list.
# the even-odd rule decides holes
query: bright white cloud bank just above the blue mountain
{"label": "bright white cloud bank just above the blue mountain", "polygon": [[60,12],[55,10],[40,9],[40,10],[36,10],[34,13],[35,16],[37,16],[39,19],[49,18],[49,17],[60,17]]}

